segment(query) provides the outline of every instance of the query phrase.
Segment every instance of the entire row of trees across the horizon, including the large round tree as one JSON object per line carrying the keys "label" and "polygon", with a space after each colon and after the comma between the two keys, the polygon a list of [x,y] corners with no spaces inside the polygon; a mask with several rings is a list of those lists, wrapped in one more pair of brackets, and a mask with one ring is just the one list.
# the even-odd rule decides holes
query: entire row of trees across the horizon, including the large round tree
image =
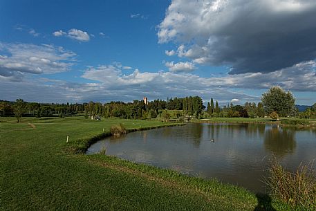
{"label": "entire row of trees across the horizon, including the large round tree", "polygon": [[[207,102],[207,107],[203,106],[203,101],[198,96],[186,98],[167,98],[167,100],[156,99],[145,104],[142,100],[133,102],[109,102],[102,104],[100,102],[89,102],[83,104],[44,104],[37,102],[16,102],[0,101],[0,116],[73,116],[84,115],[104,116],[105,118],[156,118],[157,116],[169,118],[166,109],[178,110],[176,118],[180,116],[194,116],[199,118],[206,117],[243,117],[255,118],[264,116],[297,116],[300,118],[316,117],[316,103],[306,111],[299,113],[295,108],[295,98],[292,93],[286,92],[279,86],[274,86],[266,93],[263,93],[261,101],[258,104],[246,102],[244,106],[233,105],[219,107],[213,98]],[[19,119],[18,119],[19,120]]]}

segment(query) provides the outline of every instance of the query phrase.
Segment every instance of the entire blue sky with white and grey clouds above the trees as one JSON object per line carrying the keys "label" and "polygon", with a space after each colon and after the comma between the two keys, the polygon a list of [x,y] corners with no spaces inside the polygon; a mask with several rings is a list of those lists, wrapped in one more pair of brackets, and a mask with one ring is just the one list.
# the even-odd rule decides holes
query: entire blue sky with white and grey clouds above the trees
{"label": "entire blue sky with white and grey clouds above the trees", "polygon": [[316,102],[315,0],[0,0],[0,99]]}

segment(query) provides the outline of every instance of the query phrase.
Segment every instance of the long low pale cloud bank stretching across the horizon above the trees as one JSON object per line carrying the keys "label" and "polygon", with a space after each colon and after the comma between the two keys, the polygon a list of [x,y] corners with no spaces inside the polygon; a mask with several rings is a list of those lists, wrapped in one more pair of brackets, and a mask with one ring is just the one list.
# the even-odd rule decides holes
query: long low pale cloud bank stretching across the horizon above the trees
{"label": "long low pale cloud bank stretching across the horizon above the trees", "polygon": [[[1,45],[0,45],[1,48]],[[56,48],[55,48],[56,49]],[[1,55],[1,59],[7,56]],[[35,61],[37,59],[32,58]],[[48,62],[43,57],[41,62]],[[160,71],[151,73],[127,71],[120,62],[100,66],[90,66],[83,71],[82,76],[87,83],[66,82],[63,80],[49,80],[47,78],[29,79],[21,82],[8,80],[0,74],[0,95],[2,99],[15,100],[23,98],[28,101],[40,102],[109,102],[111,100],[132,101],[147,96],[149,100],[166,99],[167,96],[185,97],[199,95],[203,99],[216,99],[220,104],[227,104],[232,99],[243,102],[259,101],[261,94],[249,95],[244,89],[270,89],[279,85],[290,91],[316,92],[315,62],[305,62],[292,66],[286,70],[273,73],[243,73],[239,75],[223,75],[223,77],[201,77],[192,73],[174,73]],[[0,66],[0,70],[2,66]],[[290,77],[292,71],[300,71],[297,77]],[[236,91],[239,90],[239,91]],[[49,94],[51,93],[51,94]],[[311,94],[313,95],[313,94]],[[295,95],[298,99],[300,96]],[[304,99],[303,99],[304,100]],[[313,104],[313,99],[305,101]]]}

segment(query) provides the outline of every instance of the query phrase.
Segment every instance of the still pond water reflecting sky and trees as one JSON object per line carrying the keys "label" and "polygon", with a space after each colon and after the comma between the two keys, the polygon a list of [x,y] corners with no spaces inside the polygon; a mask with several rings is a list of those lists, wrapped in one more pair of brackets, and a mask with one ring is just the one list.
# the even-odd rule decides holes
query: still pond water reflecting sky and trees
{"label": "still pond water reflecting sky and trees", "polygon": [[137,163],[216,177],[253,192],[266,192],[262,181],[268,176],[270,158],[275,156],[291,171],[301,161],[315,160],[316,131],[277,125],[192,123],[106,138],[91,145],[87,154],[100,152],[102,147],[108,155]]}

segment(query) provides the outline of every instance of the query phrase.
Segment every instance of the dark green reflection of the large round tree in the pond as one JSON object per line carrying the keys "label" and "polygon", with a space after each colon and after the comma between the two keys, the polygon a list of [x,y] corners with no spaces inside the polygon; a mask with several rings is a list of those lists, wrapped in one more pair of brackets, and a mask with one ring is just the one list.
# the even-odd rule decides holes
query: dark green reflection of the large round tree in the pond
{"label": "dark green reflection of the large round tree in the pond", "polygon": [[275,156],[283,157],[295,151],[295,130],[273,126],[266,130],[264,146]]}

